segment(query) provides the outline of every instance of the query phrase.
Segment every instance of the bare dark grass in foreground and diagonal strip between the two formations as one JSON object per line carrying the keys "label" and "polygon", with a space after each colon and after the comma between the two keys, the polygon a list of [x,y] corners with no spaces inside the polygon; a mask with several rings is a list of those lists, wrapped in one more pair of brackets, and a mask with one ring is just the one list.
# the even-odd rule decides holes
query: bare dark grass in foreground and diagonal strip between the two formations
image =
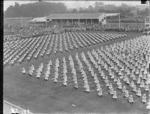
{"label": "bare dark grass in foreground and diagonal strip between the two formations", "polygon": [[[134,104],[129,104],[125,98],[119,93],[119,99],[114,101],[108,93],[104,93],[103,97],[98,97],[95,90],[85,93],[82,86],[74,89],[71,83],[71,73],[68,73],[68,86],[64,87],[61,83],[61,74],[59,83],[53,83],[53,80],[47,82],[43,79],[37,79],[21,73],[21,68],[28,68],[32,64],[35,67],[41,62],[47,63],[49,60],[56,58],[62,59],[63,56],[72,55],[76,52],[87,52],[96,47],[120,42],[125,39],[135,38],[140,34],[128,33],[127,38],[116,39],[114,41],[96,44],[82,49],[58,53],[50,57],[38,58],[37,60],[20,65],[6,66],[4,70],[4,95],[3,98],[22,108],[29,109],[33,113],[107,113],[107,114],[148,114],[145,105],[138,98]],[[60,69],[61,71],[62,69]],[[77,73],[77,75],[80,75]],[[53,77],[53,71],[52,75]],[[82,82],[79,82],[82,85]]]}

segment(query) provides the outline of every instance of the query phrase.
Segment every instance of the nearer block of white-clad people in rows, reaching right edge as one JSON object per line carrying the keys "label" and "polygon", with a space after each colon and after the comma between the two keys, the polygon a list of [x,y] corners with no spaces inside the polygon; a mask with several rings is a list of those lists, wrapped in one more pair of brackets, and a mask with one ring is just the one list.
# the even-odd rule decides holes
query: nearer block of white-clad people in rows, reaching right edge
{"label": "nearer block of white-clad people in rows, reaching right edge", "polygon": [[[62,83],[64,86],[69,86],[67,79],[72,76],[73,81],[70,83],[73,83],[75,89],[81,87],[87,93],[95,89],[99,97],[110,95],[115,100],[120,99],[121,95],[130,104],[140,101],[150,109],[149,44],[148,36],[140,36],[86,52],[77,52],[62,59],[56,58],[48,61],[47,65],[41,63],[37,69],[34,65],[23,67],[22,73],[39,79],[53,80],[54,83]],[[54,67],[51,67],[52,65]],[[68,71],[71,71],[71,74],[68,74]],[[44,77],[41,76],[42,72]],[[63,78],[60,78],[60,72]],[[61,79],[62,81],[58,82]],[[82,81],[82,84],[78,81]],[[120,92],[122,94],[119,94]]]}

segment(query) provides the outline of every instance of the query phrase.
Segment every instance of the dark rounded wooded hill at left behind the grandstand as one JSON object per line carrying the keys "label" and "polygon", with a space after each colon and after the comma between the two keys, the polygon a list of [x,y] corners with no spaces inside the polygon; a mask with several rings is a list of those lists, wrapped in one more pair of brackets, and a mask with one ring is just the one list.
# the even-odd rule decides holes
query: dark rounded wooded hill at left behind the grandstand
{"label": "dark rounded wooded hill at left behind the grandstand", "polygon": [[4,12],[4,17],[42,17],[51,13],[63,13],[66,10],[63,3],[36,2],[22,5],[15,3]]}

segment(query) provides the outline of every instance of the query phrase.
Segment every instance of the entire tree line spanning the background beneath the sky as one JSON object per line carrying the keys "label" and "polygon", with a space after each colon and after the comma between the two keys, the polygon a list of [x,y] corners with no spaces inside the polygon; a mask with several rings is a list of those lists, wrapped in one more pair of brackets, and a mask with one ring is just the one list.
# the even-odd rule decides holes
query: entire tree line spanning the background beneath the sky
{"label": "entire tree line spanning the background beneath the sky", "polygon": [[32,4],[19,5],[15,3],[14,6],[10,6],[4,13],[5,17],[42,17],[54,13],[118,13],[122,15],[133,16],[142,15],[147,16],[150,14],[148,8],[139,10],[137,7],[128,6],[122,4],[121,6],[104,5],[102,2],[95,2],[95,5],[90,5],[88,8],[68,9],[63,3],[50,3],[50,2],[36,2]]}

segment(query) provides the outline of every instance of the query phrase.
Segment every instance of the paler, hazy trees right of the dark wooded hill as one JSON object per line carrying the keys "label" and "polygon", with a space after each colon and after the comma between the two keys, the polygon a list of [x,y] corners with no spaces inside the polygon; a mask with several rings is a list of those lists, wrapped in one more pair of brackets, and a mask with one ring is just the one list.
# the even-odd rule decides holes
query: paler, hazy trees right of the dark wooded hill
{"label": "paler, hazy trees right of the dark wooded hill", "polygon": [[[76,9],[71,11],[72,13],[78,12]],[[106,13],[118,13],[120,12],[122,15],[133,16],[133,15],[141,15],[148,16],[150,14],[149,8],[145,8],[144,10],[140,10],[138,7],[129,6],[126,4],[122,4],[121,6],[116,6],[113,4],[105,5],[102,2],[95,2],[95,5],[90,5],[88,8],[83,9],[80,8],[79,12],[81,13],[95,13],[95,12],[106,12]]]}

